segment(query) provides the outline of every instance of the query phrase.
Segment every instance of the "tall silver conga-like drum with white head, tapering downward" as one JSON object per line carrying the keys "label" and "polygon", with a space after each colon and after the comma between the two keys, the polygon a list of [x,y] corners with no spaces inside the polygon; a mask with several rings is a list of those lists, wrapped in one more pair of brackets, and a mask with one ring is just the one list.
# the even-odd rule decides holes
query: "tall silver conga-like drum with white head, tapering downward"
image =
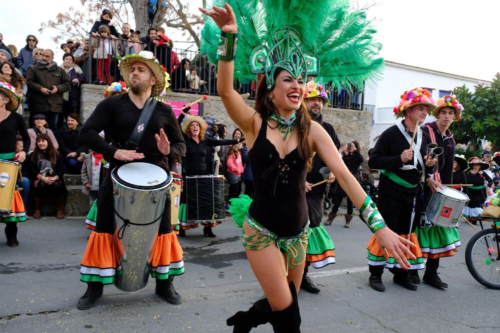
{"label": "tall silver conga-like drum with white head, tapering downward", "polygon": [[123,247],[121,272],[116,274],[114,285],[134,293],[147,285],[149,250],[165,204],[170,204],[172,176],[157,165],[136,162],[114,168],[111,180],[116,244]]}

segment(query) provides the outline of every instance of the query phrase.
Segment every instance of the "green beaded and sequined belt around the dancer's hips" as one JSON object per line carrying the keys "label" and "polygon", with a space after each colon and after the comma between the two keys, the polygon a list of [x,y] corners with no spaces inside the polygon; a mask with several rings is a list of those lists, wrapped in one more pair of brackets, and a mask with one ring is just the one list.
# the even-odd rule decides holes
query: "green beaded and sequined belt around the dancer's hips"
{"label": "green beaded and sequined belt around the dancer's hips", "polygon": [[309,221],[307,221],[298,235],[293,237],[278,237],[272,231],[260,225],[248,214],[245,216],[245,222],[257,231],[256,234],[246,235],[243,227],[242,241],[245,249],[259,250],[275,242],[277,248],[287,254],[286,258],[288,265],[285,265],[286,271],[288,267],[295,268],[305,261],[305,249],[307,248],[307,241],[310,234]]}

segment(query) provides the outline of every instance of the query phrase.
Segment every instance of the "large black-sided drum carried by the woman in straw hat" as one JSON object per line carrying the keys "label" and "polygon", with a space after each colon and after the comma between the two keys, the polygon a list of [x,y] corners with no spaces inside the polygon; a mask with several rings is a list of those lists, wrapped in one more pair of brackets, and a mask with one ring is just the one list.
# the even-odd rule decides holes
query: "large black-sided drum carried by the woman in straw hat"
{"label": "large black-sided drum carried by the woman in straw hat", "polygon": [[186,177],[187,222],[224,221],[224,177]]}

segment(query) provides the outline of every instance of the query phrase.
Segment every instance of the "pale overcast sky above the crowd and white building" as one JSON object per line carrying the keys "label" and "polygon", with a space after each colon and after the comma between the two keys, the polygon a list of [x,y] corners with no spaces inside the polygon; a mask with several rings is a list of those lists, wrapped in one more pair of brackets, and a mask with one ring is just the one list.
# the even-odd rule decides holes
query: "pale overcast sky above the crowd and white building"
{"label": "pale overcast sky above the crowd and white building", "polygon": [[[58,49],[50,38],[56,32],[46,29],[39,33],[40,23],[54,19],[57,12],[69,6],[79,7],[80,1],[48,3],[42,6],[39,1],[23,0],[23,8],[19,8],[18,1],[2,1],[3,41],[20,48],[25,45],[26,35],[32,33],[40,40],[40,47]],[[201,0],[190,3],[191,10],[197,10]],[[484,80],[490,80],[500,71],[500,44],[496,37],[500,1],[354,0],[351,3],[359,7],[375,3],[367,13],[374,19],[376,40],[382,43],[381,55],[386,60]],[[186,45],[179,43],[185,37],[174,32],[167,29],[167,35],[174,36],[175,46]],[[55,60],[60,63],[57,56]]]}

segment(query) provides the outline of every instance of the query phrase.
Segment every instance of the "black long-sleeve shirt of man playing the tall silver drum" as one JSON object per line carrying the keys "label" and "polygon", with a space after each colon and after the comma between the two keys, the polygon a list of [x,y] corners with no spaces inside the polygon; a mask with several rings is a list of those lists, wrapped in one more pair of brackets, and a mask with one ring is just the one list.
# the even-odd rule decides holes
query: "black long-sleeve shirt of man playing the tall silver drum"
{"label": "black long-sleeve shirt of man playing the tall silver drum", "polygon": [[[142,109],[135,106],[128,94],[107,97],[97,104],[95,110],[81,127],[79,140],[93,151],[110,158],[116,150],[127,149],[126,142],[132,130],[135,129],[135,124],[141,112]],[[147,127],[144,128],[144,134],[138,149],[138,152],[144,154],[144,159],[139,161],[157,164],[162,167],[167,166],[154,138],[154,135],[159,133],[161,128],[163,128],[168,141],[170,141],[170,153],[167,157],[177,159],[185,153],[185,142],[172,108],[158,102]],[[106,133],[106,137],[111,139],[111,145],[100,138],[99,132],[102,130]],[[123,164],[123,161],[114,159],[109,162],[111,168]]]}

